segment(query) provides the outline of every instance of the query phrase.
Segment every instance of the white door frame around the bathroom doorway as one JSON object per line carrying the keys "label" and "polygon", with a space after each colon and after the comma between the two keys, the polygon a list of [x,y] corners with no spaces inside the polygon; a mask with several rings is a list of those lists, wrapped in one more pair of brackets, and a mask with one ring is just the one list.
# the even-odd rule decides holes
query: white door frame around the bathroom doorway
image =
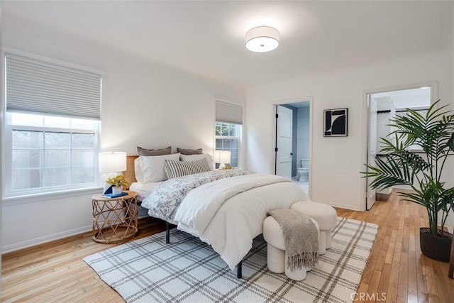
{"label": "white door frame around the bathroom doorway", "polygon": [[275,157],[275,145],[276,145],[276,106],[282,104],[289,104],[292,103],[300,103],[300,102],[309,102],[309,198],[311,197],[312,192],[312,131],[314,129],[314,99],[312,97],[298,97],[298,98],[291,98],[291,99],[280,99],[271,102],[271,118],[270,118],[270,126],[272,129],[272,137],[271,137],[271,145],[270,145],[270,155],[274,155],[270,157],[270,172],[276,175],[276,157]]}

